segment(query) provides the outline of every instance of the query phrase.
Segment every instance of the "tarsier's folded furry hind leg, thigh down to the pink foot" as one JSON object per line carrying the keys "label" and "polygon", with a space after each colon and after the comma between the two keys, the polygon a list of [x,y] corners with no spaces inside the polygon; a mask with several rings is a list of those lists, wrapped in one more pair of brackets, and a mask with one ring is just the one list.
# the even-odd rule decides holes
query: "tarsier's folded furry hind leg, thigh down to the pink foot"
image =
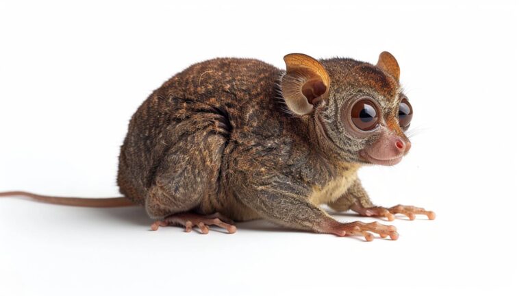
{"label": "tarsier's folded furry hind leg, thigh down to the pink foot", "polygon": [[219,192],[218,177],[227,138],[210,119],[179,123],[173,134],[177,140],[160,162],[147,193],[147,213],[159,220],[158,226],[189,225],[186,222],[190,221],[203,230],[203,225],[220,224],[216,218],[199,217],[197,212],[216,208],[213,203]]}

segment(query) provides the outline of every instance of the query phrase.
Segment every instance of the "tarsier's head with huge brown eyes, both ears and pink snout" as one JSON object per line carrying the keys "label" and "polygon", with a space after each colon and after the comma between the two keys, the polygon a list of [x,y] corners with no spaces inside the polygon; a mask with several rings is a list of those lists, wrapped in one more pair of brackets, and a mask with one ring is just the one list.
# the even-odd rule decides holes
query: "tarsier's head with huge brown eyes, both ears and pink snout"
{"label": "tarsier's head with huge brown eyes, both ears and pink snout", "polygon": [[408,153],[413,110],[403,95],[400,68],[388,52],[376,65],[345,58],[285,56],[281,90],[287,107],[311,116],[323,149],[350,162],[394,165]]}

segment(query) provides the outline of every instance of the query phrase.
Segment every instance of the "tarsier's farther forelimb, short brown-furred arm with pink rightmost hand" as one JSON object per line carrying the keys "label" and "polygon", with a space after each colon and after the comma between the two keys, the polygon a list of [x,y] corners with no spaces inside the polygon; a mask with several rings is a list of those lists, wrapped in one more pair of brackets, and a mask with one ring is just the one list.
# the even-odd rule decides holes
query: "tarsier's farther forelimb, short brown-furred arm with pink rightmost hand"
{"label": "tarsier's farther forelimb, short brown-furred arm with pink rightmost hand", "polygon": [[360,180],[356,180],[353,186],[347,190],[347,193],[331,202],[329,207],[338,212],[353,210],[365,217],[385,217],[388,221],[394,221],[395,214],[403,214],[410,220],[414,220],[416,214],[424,214],[429,220],[434,220],[436,217],[434,212],[414,206],[398,205],[391,208],[375,206],[362,187]]}

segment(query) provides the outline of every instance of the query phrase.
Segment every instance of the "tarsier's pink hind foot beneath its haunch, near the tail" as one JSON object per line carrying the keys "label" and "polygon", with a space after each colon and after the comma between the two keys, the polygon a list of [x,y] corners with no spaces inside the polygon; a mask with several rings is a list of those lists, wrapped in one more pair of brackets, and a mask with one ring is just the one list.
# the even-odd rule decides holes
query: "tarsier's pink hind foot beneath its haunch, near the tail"
{"label": "tarsier's pink hind foot beneath its haunch, near the tail", "polygon": [[208,234],[210,230],[208,226],[216,225],[227,230],[228,233],[236,232],[236,226],[230,219],[224,217],[220,213],[202,215],[194,214],[189,212],[173,214],[166,217],[164,220],[155,221],[151,224],[151,230],[158,230],[159,227],[165,227],[169,225],[181,225],[185,227],[186,232],[192,231],[192,228],[197,226],[202,234]]}

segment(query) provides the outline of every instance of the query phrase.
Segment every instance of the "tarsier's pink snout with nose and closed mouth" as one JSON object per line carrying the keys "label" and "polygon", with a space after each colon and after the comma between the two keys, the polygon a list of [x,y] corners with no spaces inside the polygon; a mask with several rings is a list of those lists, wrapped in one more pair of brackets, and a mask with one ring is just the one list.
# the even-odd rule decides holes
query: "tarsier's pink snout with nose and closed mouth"
{"label": "tarsier's pink snout with nose and closed mouth", "polygon": [[392,134],[384,129],[379,140],[360,151],[360,156],[367,162],[381,165],[395,165],[411,149],[411,142],[405,136]]}

